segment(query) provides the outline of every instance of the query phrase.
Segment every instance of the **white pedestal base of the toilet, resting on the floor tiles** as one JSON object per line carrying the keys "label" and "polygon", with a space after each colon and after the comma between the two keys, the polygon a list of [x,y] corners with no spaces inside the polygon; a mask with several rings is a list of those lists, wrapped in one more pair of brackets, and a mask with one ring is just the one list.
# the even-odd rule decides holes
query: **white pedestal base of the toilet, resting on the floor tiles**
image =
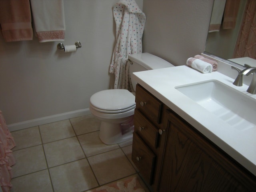
{"label": "white pedestal base of the toilet, resting on the floor tiles", "polygon": [[107,145],[131,140],[132,133],[132,131],[129,131],[122,134],[120,123],[102,121],[100,125],[100,140]]}

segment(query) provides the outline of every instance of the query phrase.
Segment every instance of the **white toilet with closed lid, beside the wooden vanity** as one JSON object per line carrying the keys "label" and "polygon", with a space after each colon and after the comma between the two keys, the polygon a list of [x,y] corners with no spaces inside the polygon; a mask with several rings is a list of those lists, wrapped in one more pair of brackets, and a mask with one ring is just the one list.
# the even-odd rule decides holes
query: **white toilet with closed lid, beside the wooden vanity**
{"label": "white toilet with closed lid, beside the wooden vanity", "polygon": [[[130,74],[133,72],[173,67],[166,60],[150,53],[128,55]],[[131,75],[133,89],[137,82]],[[96,92],[90,98],[90,112],[101,121],[100,140],[107,145],[132,139],[135,93],[126,89]]]}

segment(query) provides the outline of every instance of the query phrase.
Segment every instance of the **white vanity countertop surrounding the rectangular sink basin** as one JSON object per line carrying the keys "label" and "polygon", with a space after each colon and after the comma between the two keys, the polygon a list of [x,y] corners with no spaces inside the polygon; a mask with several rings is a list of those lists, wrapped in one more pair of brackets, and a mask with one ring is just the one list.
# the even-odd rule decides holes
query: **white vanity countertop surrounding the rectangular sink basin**
{"label": "white vanity countertop surrounding the rectangular sink basin", "polygon": [[256,95],[246,92],[248,86],[234,86],[234,79],[217,71],[202,74],[188,66],[135,72],[133,76],[138,84],[256,176],[256,125],[255,128],[248,130],[234,129],[175,88],[196,82],[218,80],[254,98],[256,102]]}

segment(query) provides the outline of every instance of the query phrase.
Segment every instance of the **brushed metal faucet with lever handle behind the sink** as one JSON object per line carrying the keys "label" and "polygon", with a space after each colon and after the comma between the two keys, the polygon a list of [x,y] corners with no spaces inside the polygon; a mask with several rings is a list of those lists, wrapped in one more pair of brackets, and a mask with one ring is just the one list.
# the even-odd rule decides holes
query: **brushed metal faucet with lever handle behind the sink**
{"label": "brushed metal faucet with lever handle behind the sink", "polygon": [[238,71],[238,76],[236,77],[235,81],[234,81],[234,85],[236,86],[242,86],[243,84],[243,75],[250,75],[251,73],[253,73],[253,77],[252,77],[252,82],[250,83],[247,92],[251,93],[251,94],[256,94],[256,67],[251,67],[247,64],[244,65],[246,68],[244,70],[240,70],[234,66],[232,66],[232,69],[235,69]]}

